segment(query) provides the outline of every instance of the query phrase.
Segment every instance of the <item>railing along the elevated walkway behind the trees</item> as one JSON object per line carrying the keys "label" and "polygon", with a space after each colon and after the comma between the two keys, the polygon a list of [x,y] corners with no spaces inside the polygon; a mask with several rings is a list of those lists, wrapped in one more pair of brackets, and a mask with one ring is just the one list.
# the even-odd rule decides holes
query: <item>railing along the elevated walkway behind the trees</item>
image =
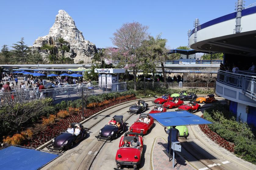
{"label": "railing along the elevated walkway behind the trees", "polygon": [[[109,60],[108,64],[119,64],[126,63],[125,60]],[[183,59],[183,60],[165,60],[164,64],[220,64],[223,63],[223,60],[195,60],[195,59]]]}

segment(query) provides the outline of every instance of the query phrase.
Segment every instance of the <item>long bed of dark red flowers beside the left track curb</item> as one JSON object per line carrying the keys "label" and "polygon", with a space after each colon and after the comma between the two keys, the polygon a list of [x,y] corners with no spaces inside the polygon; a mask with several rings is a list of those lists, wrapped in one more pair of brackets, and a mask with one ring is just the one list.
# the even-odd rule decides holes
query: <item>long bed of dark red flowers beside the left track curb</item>
{"label": "long bed of dark red flowers beside the left track curb", "polygon": [[[95,114],[101,110],[104,110],[108,107],[114,106],[116,104],[121,104],[126,101],[130,101],[130,100],[136,100],[136,97],[135,96],[130,96],[130,97],[124,96],[124,98],[117,97],[115,99],[115,101],[112,101],[111,103],[97,107],[97,109],[87,108],[85,110],[84,117],[86,117],[86,118],[90,117],[93,114]],[[62,103],[62,105],[64,105],[64,104]],[[66,106],[68,106],[68,104]],[[71,108],[68,107],[66,109],[71,109]],[[82,117],[82,113],[81,113],[81,110],[79,110],[78,112],[76,112],[76,114],[69,115],[65,119],[61,119],[60,121],[56,122],[55,124],[48,125],[44,130],[39,131],[38,134],[36,134],[32,140],[26,142],[24,144],[24,146],[37,148],[38,146],[44,144],[45,142],[51,140],[52,138],[54,138],[56,136],[58,136],[60,132],[65,131],[68,128],[69,123],[81,122],[83,120],[81,117]]]}

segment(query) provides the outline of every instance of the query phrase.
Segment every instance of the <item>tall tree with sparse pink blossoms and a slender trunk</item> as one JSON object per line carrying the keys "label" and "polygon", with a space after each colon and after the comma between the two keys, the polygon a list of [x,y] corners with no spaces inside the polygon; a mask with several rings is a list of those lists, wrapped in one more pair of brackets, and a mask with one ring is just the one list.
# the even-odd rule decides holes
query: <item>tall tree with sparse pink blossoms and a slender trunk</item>
{"label": "tall tree with sparse pink blossoms and a slender trunk", "polygon": [[133,71],[134,90],[137,88],[137,71],[143,64],[140,49],[142,42],[148,37],[148,26],[139,22],[124,23],[113,33],[112,43],[118,47],[119,54],[126,61],[125,68]]}

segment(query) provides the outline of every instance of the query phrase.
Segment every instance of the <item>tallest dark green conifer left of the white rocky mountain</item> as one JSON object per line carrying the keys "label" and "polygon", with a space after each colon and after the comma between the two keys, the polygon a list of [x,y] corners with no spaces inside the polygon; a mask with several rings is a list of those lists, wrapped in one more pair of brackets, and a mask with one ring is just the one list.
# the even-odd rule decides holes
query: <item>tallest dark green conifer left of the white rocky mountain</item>
{"label": "tallest dark green conifer left of the white rocky mountain", "polygon": [[14,56],[17,61],[20,62],[26,62],[28,61],[28,53],[30,51],[30,48],[25,44],[24,38],[22,37],[17,44],[13,44],[12,46],[13,50],[12,52],[14,53]]}

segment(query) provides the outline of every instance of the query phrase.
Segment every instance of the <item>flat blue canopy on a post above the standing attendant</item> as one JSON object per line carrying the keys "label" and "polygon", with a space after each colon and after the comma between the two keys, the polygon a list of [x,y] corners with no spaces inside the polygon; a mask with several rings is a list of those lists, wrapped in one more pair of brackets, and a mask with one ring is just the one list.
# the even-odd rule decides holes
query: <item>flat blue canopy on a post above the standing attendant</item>
{"label": "flat blue canopy on a post above the standing attendant", "polygon": [[150,114],[162,126],[183,126],[183,125],[197,125],[197,124],[212,124],[195,114],[188,111],[173,111],[163,113]]}

